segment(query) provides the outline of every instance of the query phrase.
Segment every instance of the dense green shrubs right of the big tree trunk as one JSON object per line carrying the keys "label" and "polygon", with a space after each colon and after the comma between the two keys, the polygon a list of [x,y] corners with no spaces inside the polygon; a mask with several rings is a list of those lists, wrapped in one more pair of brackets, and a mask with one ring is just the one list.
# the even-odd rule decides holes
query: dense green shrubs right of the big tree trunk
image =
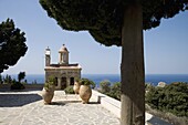
{"label": "dense green shrubs right of the big tree trunk", "polygon": [[188,84],[173,83],[165,87],[150,87],[146,94],[146,103],[163,112],[188,117]]}

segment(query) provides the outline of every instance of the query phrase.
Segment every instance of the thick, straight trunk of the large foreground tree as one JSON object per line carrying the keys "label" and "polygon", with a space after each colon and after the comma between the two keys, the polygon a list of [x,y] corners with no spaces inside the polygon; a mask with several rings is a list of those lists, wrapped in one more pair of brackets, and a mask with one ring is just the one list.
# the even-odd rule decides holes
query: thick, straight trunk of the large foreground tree
{"label": "thick, straight trunk of the large foreground tree", "polygon": [[145,125],[143,9],[139,3],[124,10],[122,46],[121,125]]}

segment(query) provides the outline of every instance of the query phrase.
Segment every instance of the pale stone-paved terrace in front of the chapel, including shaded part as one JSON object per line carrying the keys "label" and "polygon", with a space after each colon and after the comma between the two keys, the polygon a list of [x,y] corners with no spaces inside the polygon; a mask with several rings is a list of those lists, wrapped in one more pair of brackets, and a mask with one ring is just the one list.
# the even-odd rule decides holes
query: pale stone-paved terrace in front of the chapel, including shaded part
{"label": "pale stone-paved terrace in front of the chapel, including shaded part", "polygon": [[44,105],[41,91],[0,91],[0,125],[119,125],[112,112],[93,101],[82,104],[79,95],[55,91],[52,102]]}

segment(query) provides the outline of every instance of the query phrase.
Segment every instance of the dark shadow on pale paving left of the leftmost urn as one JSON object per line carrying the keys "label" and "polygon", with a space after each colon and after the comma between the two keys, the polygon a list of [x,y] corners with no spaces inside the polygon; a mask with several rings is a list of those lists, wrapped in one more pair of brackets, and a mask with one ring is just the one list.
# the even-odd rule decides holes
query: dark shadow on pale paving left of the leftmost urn
{"label": "dark shadow on pale paving left of the leftmost urn", "polygon": [[23,106],[40,100],[38,94],[0,94],[0,107]]}

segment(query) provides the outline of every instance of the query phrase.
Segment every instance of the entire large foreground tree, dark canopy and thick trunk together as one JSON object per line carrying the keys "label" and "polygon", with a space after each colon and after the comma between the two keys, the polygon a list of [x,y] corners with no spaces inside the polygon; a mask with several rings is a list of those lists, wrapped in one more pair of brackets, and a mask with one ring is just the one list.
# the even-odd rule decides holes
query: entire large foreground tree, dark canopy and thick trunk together
{"label": "entire large foreground tree, dark canopy and thick trunk together", "polygon": [[[143,29],[188,8],[188,0],[40,0],[49,17],[72,31],[87,30],[104,45],[123,46],[121,124],[145,124]],[[133,96],[134,95],[134,96]]]}

